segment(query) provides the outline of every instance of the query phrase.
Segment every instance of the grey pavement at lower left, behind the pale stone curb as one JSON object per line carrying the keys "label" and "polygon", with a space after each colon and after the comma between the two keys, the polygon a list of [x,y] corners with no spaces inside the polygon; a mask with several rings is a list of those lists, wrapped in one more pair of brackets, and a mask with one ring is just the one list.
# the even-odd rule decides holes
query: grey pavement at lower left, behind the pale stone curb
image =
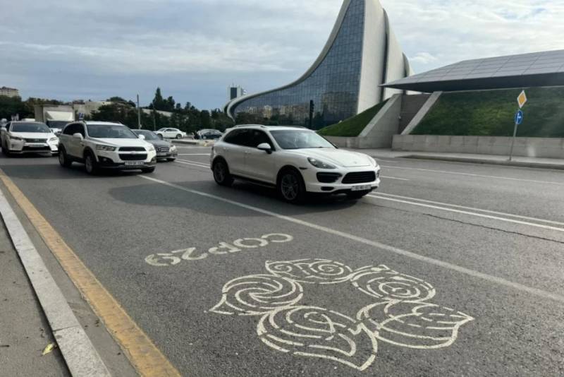
{"label": "grey pavement at lower left, behind the pale stone curb", "polygon": [[70,376],[49,323],[0,220],[0,376]]}

